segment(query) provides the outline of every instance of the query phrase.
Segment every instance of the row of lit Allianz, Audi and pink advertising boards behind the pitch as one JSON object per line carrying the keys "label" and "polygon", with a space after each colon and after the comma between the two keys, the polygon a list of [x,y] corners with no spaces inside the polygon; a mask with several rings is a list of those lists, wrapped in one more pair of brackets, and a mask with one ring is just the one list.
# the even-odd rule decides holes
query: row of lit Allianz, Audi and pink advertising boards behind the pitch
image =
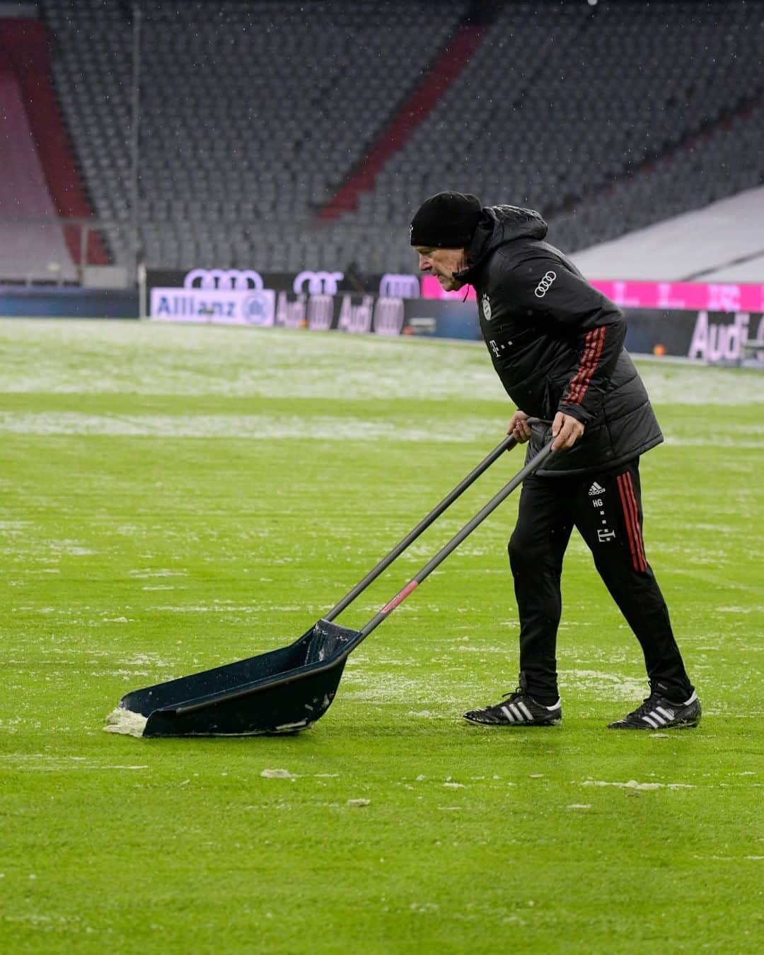
{"label": "row of lit Allianz, Audi and pink advertising boards behind the pitch", "polygon": [[[466,289],[465,299],[465,289],[444,292],[429,275],[370,277],[373,290],[368,292],[348,289],[339,271],[269,275],[254,269],[196,268],[153,276],[155,282],[170,279],[176,285],[152,286],[151,278],[150,314],[164,321],[480,339],[474,289]],[[629,351],[713,364],[764,364],[764,349],[755,348],[764,341],[764,286],[592,285],[624,309]]]}

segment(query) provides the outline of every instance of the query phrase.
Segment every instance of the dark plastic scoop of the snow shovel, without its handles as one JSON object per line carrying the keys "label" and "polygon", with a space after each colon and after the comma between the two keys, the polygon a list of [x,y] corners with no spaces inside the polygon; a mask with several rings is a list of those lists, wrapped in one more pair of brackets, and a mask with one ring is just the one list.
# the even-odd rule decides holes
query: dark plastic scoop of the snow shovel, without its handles
{"label": "dark plastic scoop of the snow shovel, without its handles", "polygon": [[288,647],[127,693],[144,736],[298,732],[329,709],[357,630],[320,620]]}

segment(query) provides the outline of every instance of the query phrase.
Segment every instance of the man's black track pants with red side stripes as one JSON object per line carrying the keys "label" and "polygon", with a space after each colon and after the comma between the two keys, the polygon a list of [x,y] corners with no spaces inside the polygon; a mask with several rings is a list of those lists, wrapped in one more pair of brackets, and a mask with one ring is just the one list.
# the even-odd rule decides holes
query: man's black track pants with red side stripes
{"label": "man's black track pants with red side stripes", "polygon": [[690,680],[668,608],[645,557],[639,459],[585,477],[528,477],[509,558],[520,612],[520,681],[541,702],[557,699],[562,556],[577,527],[613,600],[645,654],[653,690],[685,700]]}

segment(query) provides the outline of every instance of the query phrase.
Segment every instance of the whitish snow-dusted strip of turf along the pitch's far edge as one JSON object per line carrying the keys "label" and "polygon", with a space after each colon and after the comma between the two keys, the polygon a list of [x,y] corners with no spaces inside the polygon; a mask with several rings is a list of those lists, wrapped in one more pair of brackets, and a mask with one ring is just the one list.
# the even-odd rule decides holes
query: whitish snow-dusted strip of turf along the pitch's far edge
{"label": "whitish snow-dusted strip of turf along the pitch's far edge", "polygon": [[[503,396],[478,343],[194,325],[181,327],[179,334],[178,327],[162,323],[38,320],[36,327],[40,340],[31,343],[24,322],[0,321],[9,349],[6,393],[340,400]],[[14,361],[19,352],[13,346],[19,344],[25,358]],[[79,360],[83,354],[85,364]],[[764,378],[757,371],[660,359],[642,361],[640,368],[657,404],[764,402]]]}

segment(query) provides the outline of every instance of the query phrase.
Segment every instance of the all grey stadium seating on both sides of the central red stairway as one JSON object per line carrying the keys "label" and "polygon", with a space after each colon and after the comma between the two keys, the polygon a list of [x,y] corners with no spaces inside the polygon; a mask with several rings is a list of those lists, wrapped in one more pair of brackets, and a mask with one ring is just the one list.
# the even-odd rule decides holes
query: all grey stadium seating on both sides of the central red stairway
{"label": "all grey stadium seating on both sides of the central red stairway", "polygon": [[[357,207],[317,213],[470,5],[155,0],[141,17],[140,242],[149,265],[412,265],[442,189],[539,208],[574,250],[764,181],[764,4],[499,4],[475,53]],[[133,27],[43,0],[53,81],[115,258],[129,250]],[[593,10],[593,12],[592,12]]]}

